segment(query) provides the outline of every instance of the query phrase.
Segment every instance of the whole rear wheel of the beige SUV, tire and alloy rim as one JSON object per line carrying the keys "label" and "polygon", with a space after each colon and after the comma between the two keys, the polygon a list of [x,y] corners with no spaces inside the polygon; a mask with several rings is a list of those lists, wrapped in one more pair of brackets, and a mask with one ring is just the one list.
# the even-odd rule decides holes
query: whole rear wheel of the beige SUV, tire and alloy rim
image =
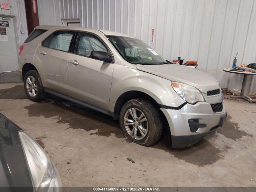
{"label": "whole rear wheel of the beige SUV, tire and alloy rim", "polygon": [[[28,89],[28,87],[32,87],[32,88]],[[36,91],[36,88],[37,88],[37,91]],[[45,93],[44,93],[42,81],[40,79],[39,73],[36,70],[30,70],[25,74],[24,89],[28,98],[34,102],[40,102],[45,99]]]}

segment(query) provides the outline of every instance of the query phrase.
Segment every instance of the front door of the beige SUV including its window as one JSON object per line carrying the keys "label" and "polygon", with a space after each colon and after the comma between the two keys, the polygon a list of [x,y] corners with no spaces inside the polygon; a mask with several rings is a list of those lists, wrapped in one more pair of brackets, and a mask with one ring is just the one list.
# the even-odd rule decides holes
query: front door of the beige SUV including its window
{"label": "front door of the beige SUV including its window", "polygon": [[79,33],[67,72],[68,94],[108,110],[113,63],[90,58],[92,50],[109,52],[92,34]]}

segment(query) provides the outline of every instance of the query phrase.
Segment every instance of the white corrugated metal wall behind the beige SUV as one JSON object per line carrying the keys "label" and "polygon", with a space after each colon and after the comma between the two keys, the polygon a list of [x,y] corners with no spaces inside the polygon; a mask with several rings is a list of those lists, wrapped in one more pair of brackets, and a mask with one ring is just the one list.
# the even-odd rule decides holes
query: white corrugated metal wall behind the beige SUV
{"label": "white corrugated metal wall behind the beige SUV", "polygon": [[[242,75],[222,71],[256,62],[255,0],[38,0],[40,25],[80,18],[83,27],[136,36],[168,60],[197,60],[222,87],[240,90]],[[151,44],[151,29],[154,43]],[[255,77],[246,92],[256,92]]]}

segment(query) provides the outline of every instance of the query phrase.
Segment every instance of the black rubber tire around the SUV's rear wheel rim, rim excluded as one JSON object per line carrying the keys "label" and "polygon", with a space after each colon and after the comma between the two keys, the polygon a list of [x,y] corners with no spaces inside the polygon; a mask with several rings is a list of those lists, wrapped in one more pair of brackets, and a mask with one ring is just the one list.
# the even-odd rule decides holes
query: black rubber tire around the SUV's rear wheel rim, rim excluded
{"label": "black rubber tire around the SUV's rear wheel rim, rim excluded", "polygon": [[[26,88],[26,81],[27,81],[29,76],[34,77],[35,81],[36,81],[37,92],[36,92],[35,96],[31,96],[28,93],[28,90]],[[28,96],[28,98],[30,100],[32,100],[34,102],[40,102],[40,101],[45,100],[45,92],[44,92],[44,89],[43,89],[43,84],[42,84],[42,81],[40,79],[39,73],[36,70],[30,70],[30,71],[28,71],[25,74],[25,77],[24,77],[24,89],[25,89],[25,92],[26,92],[26,94],[27,94],[27,96]]]}

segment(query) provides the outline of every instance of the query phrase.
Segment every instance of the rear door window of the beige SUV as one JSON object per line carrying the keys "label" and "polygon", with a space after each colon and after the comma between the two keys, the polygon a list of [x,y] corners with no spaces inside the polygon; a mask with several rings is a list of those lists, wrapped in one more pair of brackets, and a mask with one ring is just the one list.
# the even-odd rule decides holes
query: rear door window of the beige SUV
{"label": "rear door window of the beige SUV", "polygon": [[42,42],[42,46],[68,52],[74,32],[57,31]]}

